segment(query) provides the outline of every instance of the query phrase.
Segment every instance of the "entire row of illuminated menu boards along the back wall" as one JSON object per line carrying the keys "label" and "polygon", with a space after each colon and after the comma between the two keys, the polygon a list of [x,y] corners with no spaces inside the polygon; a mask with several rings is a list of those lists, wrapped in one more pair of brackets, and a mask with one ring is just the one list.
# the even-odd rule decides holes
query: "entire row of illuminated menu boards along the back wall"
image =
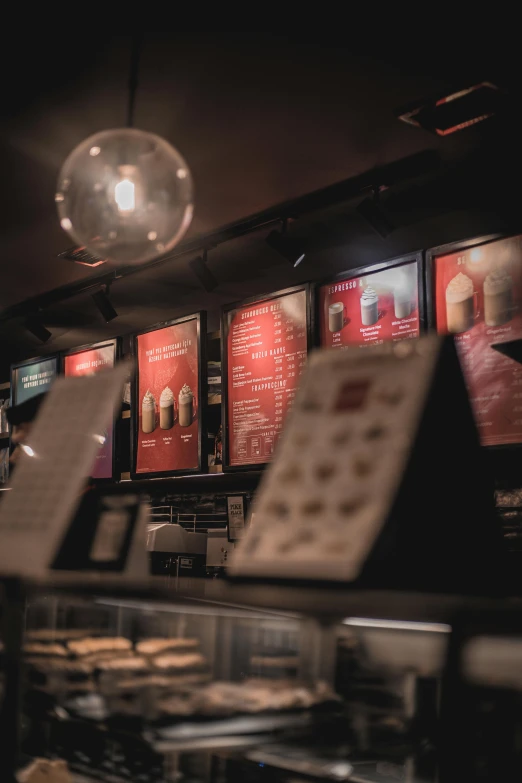
{"label": "entire row of illuminated menu boards along the back wall", "polygon": [[[427,296],[425,306],[424,291]],[[314,296],[312,294],[314,293]],[[435,248],[229,305],[222,317],[224,467],[270,462],[314,342],[342,349],[417,338],[429,325],[453,334],[485,445],[522,443],[522,366],[493,346],[522,338],[522,237]],[[315,321],[315,328],[313,323]],[[135,335],[132,475],[204,470],[204,313]],[[117,341],[71,351],[66,375],[114,365]],[[45,391],[58,357],[13,367],[13,404]],[[114,431],[93,467],[113,476]]]}

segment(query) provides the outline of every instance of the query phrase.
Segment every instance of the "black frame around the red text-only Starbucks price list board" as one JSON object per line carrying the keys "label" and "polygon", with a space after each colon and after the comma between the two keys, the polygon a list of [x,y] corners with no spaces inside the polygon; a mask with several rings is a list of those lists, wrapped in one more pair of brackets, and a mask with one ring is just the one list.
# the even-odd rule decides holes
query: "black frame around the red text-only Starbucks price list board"
{"label": "black frame around the red text-only Starbucks price list board", "polygon": [[288,294],[297,294],[304,291],[306,294],[306,352],[307,355],[314,347],[314,307],[313,307],[313,285],[311,283],[301,283],[300,285],[282,288],[279,291],[273,291],[268,294],[252,296],[248,299],[242,299],[237,302],[225,305],[221,310],[221,422],[223,427],[223,471],[226,473],[244,473],[252,470],[264,470],[269,462],[250,462],[245,465],[230,465],[229,460],[229,422],[228,422],[228,313],[239,307],[261,304],[263,302],[278,299]]}

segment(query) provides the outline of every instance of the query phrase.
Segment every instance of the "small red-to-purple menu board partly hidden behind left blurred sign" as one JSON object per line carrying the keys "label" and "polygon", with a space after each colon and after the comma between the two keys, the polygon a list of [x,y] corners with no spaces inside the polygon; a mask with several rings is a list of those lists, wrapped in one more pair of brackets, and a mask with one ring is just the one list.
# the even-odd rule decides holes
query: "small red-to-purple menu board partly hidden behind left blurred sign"
{"label": "small red-to-purple menu board partly hidden behind left blurred sign", "polygon": [[[64,374],[73,377],[95,375],[114,367],[116,345],[116,340],[109,340],[106,343],[98,343],[66,354],[63,359]],[[94,479],[113,477],[114,425],[112,423],[108,422],[104,437],[105,443],[98,451],[91,471],[91,477]]]}

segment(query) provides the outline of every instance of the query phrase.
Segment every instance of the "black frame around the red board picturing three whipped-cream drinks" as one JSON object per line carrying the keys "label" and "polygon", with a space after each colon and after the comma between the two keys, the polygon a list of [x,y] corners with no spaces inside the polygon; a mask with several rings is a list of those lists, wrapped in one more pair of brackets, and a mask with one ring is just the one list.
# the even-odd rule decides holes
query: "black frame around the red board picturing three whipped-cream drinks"
{"label": "black frame around the red board picturing three whipped-cream drinks", "polygon": [[[137,473],[136,463],[138,459],[138,429],[139,429],[139,367],[138,367],[138,337],[142,334],[155,332],[168,326],[176,326],[186,321],[196,321],[197,328],[197,347],[198,347],[198,466],[197,468],[182,468],[180,470],[162,470],[154,473]],[[202,339],[202,336],[204,339]],[[133,481],[142,481],[154,478],[167,478],[169,476],[188,476],[203,472],[203,433],[206,422],[207,405],[207,314],[205,310],[198,310],[196,313],[184,315],[181,318],[173,318],[169,321],[159,321],[157,324],[136,332],[131,337],[131,352],[135,361],[134,379],[131,383],[131,471],[130,476]],[[206,430],[205,430],[206,438]],[[206,458],[206,454],[205,454]],[[206,472],[206,471],[205,471]]]}

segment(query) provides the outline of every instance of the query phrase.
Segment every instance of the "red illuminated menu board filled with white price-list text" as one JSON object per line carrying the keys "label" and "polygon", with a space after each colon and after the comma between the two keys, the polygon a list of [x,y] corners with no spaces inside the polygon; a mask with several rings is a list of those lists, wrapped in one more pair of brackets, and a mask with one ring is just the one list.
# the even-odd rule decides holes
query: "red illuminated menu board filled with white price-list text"
{"label": "red illuminated menu board filled with white price-list text", "polygon": [[225,469],[270,462],[306,363],[308,327],[307,286],[225,310]]}

